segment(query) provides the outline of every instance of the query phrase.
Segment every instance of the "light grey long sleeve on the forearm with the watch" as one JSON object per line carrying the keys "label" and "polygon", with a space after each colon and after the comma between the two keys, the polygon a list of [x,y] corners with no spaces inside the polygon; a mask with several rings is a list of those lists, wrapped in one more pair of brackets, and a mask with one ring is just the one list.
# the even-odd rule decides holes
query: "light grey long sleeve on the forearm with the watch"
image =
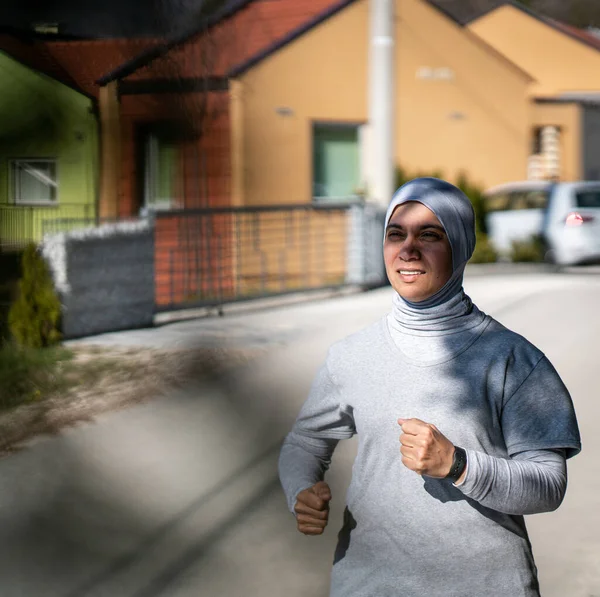
{"label": "light grey long sleeve on the forearm with the watch", "polygon": [[467,450],[466,496],[505,514],[537,514],[560,506],[567,488],[564,450],[528,450],[497,458]]}

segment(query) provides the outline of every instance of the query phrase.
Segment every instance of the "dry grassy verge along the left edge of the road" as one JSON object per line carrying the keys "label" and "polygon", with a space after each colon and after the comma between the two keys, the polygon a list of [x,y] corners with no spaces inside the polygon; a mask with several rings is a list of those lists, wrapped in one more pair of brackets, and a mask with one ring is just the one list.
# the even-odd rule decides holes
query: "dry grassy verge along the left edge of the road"
{"label": "dry grassy verge along the left edge of the road", "polygon": [[174,388],[222,379],[257,351],[76,345],[0,349],[0,457],[25,442],[90,422]]}

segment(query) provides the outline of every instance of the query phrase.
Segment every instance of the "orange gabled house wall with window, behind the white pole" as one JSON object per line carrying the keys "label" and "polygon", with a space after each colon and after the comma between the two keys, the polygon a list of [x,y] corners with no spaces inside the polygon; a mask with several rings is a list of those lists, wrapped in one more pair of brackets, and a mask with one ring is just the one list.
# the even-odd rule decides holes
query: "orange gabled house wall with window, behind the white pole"
{"label": "orange gabled house wall with window, behind the white pole", "polygon": [[[395,6],[395,160],[523,179],[533,77],[426,0]],[[368,179],[369,1],[338,3],[229,73],[232,203],[335,200]]]}

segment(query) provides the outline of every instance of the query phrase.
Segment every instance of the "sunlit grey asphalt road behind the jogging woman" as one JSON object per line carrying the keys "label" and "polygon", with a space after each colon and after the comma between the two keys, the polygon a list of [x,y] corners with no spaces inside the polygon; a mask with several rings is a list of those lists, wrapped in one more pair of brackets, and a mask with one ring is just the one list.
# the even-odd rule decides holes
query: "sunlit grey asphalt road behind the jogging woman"
{"label": "sunlit grey asphalt road behind the jogging woman", "polygon": [[[527,520],[542,595],[600,597],[600,276],[482,274],[465,286],[540,347],[571,390],[584,450],[569,462],[560,509]],[[390,300],[384,288],[95,338],[265,352],[227,380],[180,388],[1,460],[0,595],[325,597],[356,445],[338,448],[331,524],[309,538],[286,511],[279,444],[327,347],[381,317]]]}

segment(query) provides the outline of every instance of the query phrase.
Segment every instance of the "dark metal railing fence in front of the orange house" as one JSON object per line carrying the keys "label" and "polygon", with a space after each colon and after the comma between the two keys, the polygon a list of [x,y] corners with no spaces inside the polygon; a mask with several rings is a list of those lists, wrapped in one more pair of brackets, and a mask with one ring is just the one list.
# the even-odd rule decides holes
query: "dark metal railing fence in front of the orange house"
{"label": "dark metal railing fence in front of the orange house", "polygon": [[364,282],[364,215],[357,202],[157,212],[157,310]]}

